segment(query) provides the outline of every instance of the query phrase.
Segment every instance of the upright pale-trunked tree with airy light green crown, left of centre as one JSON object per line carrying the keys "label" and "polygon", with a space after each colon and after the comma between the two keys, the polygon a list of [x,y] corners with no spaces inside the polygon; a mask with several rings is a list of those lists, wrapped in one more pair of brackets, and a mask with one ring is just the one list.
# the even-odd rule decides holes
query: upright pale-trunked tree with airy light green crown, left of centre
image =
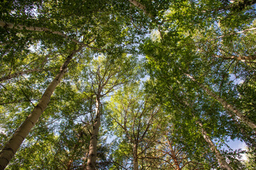
{"label": "upright pale-trunked tree with airy light green crown, left of centre", "polygon": [[[86,71],[86,69],[90,68]],[[132,56],[122,54],[117,58],[108,59],[107,56],[99,56],[97,60],[92,60],[84,74],[87,74],[87,81],[90,82],[85,86],[85,94],[88,98],[95,100],[95,113],[91,113],[90,125],[90,148],[87,159],[86,169],[96,168],[97,159],[97,139],[100,132],[100,122],[103,111],[102,100],[105,96],[112,94],[113,91],[120,88],[129,81],[136,79],[139,70],[137,61]],[[134,70],[129,68],[133,67]],[[86,82],[86,81],[85,81]],[[90,91],[88,91],[90,89]]]}

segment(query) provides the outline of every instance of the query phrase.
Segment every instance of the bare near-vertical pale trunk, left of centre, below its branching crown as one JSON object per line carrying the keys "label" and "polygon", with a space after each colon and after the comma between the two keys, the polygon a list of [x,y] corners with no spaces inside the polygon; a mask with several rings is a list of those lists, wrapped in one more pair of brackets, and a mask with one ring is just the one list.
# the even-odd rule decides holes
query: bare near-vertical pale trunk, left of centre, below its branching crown
{"label": "bare near-vertical pale trunk, left of centre, below its branching crown", "polygon": [[89,155],[87,159],[87,170],[95,170],[96,169],[96,159],[97,159],[97,137],[99,135],[100,130],[100,95],[96,95],[96,118],[95,123],[93,125],[92,134],[90,137],[90,147],[89,147]]}

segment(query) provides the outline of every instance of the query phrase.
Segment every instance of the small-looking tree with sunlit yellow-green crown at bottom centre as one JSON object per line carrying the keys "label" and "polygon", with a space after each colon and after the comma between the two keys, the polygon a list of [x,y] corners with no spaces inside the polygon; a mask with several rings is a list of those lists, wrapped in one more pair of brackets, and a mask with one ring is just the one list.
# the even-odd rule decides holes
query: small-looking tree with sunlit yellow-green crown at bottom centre
{"label": "small-looking tree with sunlit yellow-green crown at bottom centre", "polygon": [[[146,155],[146,149],[154,142],[149,137],[155,137],[154,132],[157,132],[159,128],[155,123],[160,122],[161,116],[163,116],[160,115],[161,108],[154,106],[152,100],[154,100],[154,96],[142,94],[139,84],[133,84],[124,86],[122,90],[117,91],[108,103],[109,113],[107,116],[112,122],[110,130],[115,131],[114,135],[119,140],[117,151],[113,154],[116,163],[114,167],[129,168],[126,164],[122,164],[124,156],[121,155],[123,154],[128,159],[132,157],[133,169],[146,167],[142,163],[143,155]],[[124,147],[124,143],[128,143],[129,147]],[[144,147],[140,147],[142,145]]]}

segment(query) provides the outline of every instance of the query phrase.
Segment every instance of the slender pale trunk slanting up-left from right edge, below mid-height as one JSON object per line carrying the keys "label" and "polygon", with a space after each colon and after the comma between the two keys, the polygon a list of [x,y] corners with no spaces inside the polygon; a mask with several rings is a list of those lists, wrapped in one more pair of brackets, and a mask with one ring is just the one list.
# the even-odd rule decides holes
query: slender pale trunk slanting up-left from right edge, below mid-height
{"label": "slender pale trunk slanting up-left from right edge, below mid-height", "polygon": [[243,115],[240,111],[238,111],[237,109],[235,109],[232,105],[230,105],[227,101],[225,101],[223,98],[220,98],[218,95],[216,95],[215,93],[213,93],[213,91],[211,91],[210,89],[208,89],[206,86],[203,86],[203,84],[198,83],[198,81],[196,81],[196,79],[194,79],[191,75],[186,74],[186,77],[188,77],[189,79],[195,81],[198,86],[201,86],[201,88],[206,91],[207,94],[209,94],[210,96],[212,96],[213,98],[215,98],[215,100],[219,101],[223,107],[225,109],[227,109],[228,111],[231,111],[232,113],[234,113],[243,123],[245,123],[247,126],[249,126],[250,128],[252,128],[252,130],[256,130],[256,125],[255,123],[252,123],[252,121],[248,118],[245,117],[245,115]]}

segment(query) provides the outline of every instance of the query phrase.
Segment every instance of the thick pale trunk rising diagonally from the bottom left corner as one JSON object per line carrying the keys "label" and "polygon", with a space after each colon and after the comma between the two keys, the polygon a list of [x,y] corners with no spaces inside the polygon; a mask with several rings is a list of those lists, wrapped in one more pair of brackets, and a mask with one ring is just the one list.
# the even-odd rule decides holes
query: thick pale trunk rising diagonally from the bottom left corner
{"label": "thick pale trunk rising diagonally from the bottom left corner", "polygon": [[60,72],[57,74],[55,79],[49,84],[48,88],[44,92],[41,100],[37,106],[33,109],[32,113],[28,115],[28,118],[21,124],[21,126],[14,132],[14,135],[11,137],[11,140],[6,143],[4,149],[0,152],[0,170],[5,169],[10,160],[14,157],[14,154],[17,152],[18,148],[21,146],[23,140],[30,132],[31,128],[36,125],[39,117],[42,115],[43,111],[46,110],[48,103],[50,101],[50,96],[53,94],[56,86],[60,83],[60,80],[63,78],[65,71],[68,67],[68,64],[72,60],[73,56],[82,50],[83,45],[79,47],[78,50],[73,51],[65,60],[64,64],[60,67]]}

